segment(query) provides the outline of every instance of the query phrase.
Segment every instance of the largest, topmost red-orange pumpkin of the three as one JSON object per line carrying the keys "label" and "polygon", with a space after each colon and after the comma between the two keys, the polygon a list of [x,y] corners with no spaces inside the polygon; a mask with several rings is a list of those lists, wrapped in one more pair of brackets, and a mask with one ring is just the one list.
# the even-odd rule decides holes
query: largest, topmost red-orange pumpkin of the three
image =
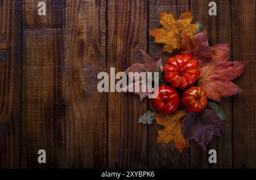
{"label": "largest, topmost red-orange pumpkin of the three", "polygon": [[200,77],[199,62],[190,55],[176,55],[168,58],[163,72],[164,79],[173,87],[185,89]]}

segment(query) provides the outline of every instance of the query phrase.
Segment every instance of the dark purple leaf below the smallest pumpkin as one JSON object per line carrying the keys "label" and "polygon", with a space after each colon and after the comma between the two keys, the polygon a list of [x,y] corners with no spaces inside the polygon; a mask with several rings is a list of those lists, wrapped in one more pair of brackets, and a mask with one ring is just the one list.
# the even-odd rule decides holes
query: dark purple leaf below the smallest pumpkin
{"label": "dark purple leaf below the smallest pumpkin", "polygon": [[182,133],[186,140],[195,139],[206,150],[212,136],[222,136],[222,122],[213,110],[200,113],[188,112],[184,118]]}

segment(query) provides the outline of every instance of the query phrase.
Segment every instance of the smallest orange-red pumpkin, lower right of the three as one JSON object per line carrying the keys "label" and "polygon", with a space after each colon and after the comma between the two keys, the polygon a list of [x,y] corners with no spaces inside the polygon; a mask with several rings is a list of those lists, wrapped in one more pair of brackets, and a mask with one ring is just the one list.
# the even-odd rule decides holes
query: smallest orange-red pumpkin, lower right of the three
{"label": "smallest orange-red pumpkin, lower right of the three", "polygon": [[192,86],[182,94],[181,104],[187,111],[201,112],[207,106],[207,94],[200,87]]}

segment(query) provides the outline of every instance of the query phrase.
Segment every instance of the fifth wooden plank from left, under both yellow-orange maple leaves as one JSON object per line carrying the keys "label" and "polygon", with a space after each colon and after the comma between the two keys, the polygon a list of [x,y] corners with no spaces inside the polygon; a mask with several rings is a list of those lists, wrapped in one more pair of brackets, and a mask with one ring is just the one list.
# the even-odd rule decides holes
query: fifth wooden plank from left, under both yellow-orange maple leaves
{"label": "fifth wooden plank from left, under both yellow-orange maple leaves", "polygon": [[[149,31],[154,28],[160,28],[159,12],[167,12],[174,14],[175,18],[185,10],[189,9],[188,1],[167,1],[167,0],[150,0],[149,1]],[[163,45],[154,44],[154,37],[149,36],[149,54],[158,59],[162,57],[166,62],[170,53],[162,52]],[[164,63],[165,64],[165,63]],[[180,153],[174,143],[159,144],[156,139],[157,131],[162,127],[156,123],[148,128],[148,165],[149,168],[189,168],[189,148],[184,148]]]}

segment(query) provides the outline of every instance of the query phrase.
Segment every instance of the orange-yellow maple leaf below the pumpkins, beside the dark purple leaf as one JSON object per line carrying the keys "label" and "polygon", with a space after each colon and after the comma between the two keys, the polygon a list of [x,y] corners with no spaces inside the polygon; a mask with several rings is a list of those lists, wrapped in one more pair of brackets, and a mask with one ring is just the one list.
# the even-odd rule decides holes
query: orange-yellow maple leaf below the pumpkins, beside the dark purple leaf
{"label": "orange-yellow maple leaf below the pumpkins, beside the dark purple leaf", "polygon": [[156,123],[163,125],[164,129],[158,131],[158,143],[169,143],[174,140],[174,146],[182,152],[184,147],[189,147],[181,132],[182,120],[186,115],[185,110],[177,110],[174,114],[156,114]]}

